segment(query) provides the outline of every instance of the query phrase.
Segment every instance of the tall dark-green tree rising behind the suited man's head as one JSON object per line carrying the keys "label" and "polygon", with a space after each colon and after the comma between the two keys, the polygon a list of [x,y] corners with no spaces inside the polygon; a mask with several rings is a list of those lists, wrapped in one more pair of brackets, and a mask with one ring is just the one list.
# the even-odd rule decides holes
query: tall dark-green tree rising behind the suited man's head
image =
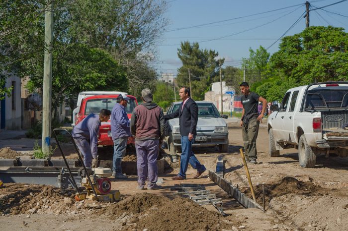
{"label": "tall dark-green tree rising behind the suited man's head", "polygon": [[210,90],[210,84],[219,75],[219,61],[221,65],[224,62],[224,59],[217,60],[218,55],[212,50],[199,49],[198,43],[191,45],[188,41],[181,42],[180,48],[177,49],[177,56],[182,62],[176,77],[178,86],[189,87],[189,69],[191,95],[195,100],[203,100],[204,93]]}

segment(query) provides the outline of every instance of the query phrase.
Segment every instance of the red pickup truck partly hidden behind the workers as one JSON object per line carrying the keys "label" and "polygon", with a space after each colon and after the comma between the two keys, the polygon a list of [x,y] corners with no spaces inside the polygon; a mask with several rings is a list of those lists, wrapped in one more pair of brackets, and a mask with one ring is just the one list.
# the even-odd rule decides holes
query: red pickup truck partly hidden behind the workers
{"label": "red pickup truck partly hidden behind the workers", "polygon": [[[75,124],[81,122],[90,113],[99,114],[101,109],[108,109],[112,111],[113,106],[116,104],[116,98],[118,95],[95,95],[85,97],[81,102],[80,111]],[[130,100],[125,108],[128,118],[132,116],[133,109],[138,105],[138,101],[134,96],[128,95]],[[110,120],[102,122],[99,135],[98,144],[103,146],[112,146],[113,141],[111,137],[111,125]],[[128,138],[128,144],[134,144],[134,137]]]}

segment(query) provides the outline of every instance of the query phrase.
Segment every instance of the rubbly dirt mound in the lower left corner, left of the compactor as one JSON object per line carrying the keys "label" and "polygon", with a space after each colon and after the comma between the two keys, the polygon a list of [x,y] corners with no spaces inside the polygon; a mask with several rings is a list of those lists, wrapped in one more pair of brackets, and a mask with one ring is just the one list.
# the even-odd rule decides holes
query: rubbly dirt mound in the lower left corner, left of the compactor
{"label": "rubbly dirt mound in the lower left corner, left of the compactor", "polygon": [[83,203],[76,202],[71,190],[53,186],[6,184],[0,189],[0,214],[78,213]]}

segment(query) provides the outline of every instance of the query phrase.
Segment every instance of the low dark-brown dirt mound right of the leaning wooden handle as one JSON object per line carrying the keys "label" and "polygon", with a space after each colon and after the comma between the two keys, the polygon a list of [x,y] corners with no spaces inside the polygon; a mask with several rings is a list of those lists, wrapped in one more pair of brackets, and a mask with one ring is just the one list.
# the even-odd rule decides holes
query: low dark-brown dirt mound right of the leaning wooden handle
{"label": "low dark-brown dirt mound right of the leaning wooden handle", "polygon": [[[262,204],[262,185],[257,185],[254,190],[257,202],[259,204]],[[248,194],[250,197],[252,196],[250,189],[245,190],[245,193]],[[290,176],[286,176],[276,183],[264,185],[266,205],[272,198],[280,197],[289,193],[315,196],[325,195],[328,193],[328,190],[321,188],[320,186],[314,185],[311,181],[303,182]]]}

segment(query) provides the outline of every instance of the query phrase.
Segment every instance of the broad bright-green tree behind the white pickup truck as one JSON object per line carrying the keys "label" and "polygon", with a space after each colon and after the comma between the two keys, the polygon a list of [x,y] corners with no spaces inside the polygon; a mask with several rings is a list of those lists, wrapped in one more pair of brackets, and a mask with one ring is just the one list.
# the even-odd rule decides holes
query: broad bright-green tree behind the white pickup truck
{"label": "broad bright-green tree behind the white pickup truck", "polygon": [[298,84],[348,79],[348,34],[344,28],[311,26],[282,39],[270,68]]}

